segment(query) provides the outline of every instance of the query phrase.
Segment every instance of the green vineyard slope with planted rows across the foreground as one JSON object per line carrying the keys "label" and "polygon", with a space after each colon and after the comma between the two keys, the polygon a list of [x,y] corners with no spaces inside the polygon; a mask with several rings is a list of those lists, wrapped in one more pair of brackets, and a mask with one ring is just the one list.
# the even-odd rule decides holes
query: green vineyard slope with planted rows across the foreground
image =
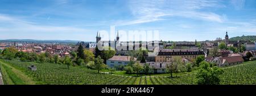
{"label": "green vineyard slope with planted rows across the foreground", "polygon": [[[34,64],[37,71],[27,69]],[[5,84],[47,84],[47,85],[191,85],[196,84],[196,72],[174,75],[121,76],[97,73],[96,70],[71,67],[53,63],[19,62],[0,60]],[[256,61],[224,68],[221,84],[256,84]]]}

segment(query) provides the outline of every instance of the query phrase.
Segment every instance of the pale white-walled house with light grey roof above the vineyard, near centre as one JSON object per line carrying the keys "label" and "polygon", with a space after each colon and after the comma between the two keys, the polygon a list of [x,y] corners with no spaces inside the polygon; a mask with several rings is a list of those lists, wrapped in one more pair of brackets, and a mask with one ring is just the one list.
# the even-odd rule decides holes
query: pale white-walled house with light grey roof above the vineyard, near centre
{"label": "pale white-walled house with light grey roof above the vineyard, near centre", "polygon": [[[120,65],[123,64],[126,66],[127,64],[130,63],[131,56],[118,56],[114,55],[112,58],[106,60],[106,64],[109,67],[114,67],[115,65]],[[137,58],[134,58],[134,61],[136,61]]]}

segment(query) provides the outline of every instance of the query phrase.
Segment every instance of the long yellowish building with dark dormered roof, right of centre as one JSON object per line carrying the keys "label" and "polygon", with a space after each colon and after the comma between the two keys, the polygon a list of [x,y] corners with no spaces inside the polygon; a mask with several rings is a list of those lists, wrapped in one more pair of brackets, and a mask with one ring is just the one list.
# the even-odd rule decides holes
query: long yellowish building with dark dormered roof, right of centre
{"label": "long yellowish building with dark dormered roof, right of centre", "polygon": [[175,57],[192,60],[200,55],[204,56],[204,51],[197,49],[160,49],[158,55],[155,56],[155,62],[172,62]]}

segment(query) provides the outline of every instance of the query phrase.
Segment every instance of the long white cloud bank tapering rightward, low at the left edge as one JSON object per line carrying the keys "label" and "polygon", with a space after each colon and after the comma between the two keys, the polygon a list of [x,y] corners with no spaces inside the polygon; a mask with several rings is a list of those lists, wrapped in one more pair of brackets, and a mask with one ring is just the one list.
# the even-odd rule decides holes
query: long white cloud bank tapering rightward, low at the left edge
{"label": "long white cloud bank tapering rightward, low at the left edge", "polygon": [[[7,27],[3,27],[2,24],[8,24]],[[13,18],[7,15],[0,14],[0,32],[50,32],[50,33],[60,33],[60,32],[86,32],[88,30],[75,27],[57,27],[50,25],[39,25],[31,23],[30,21],[25,21],[17,18]]]}

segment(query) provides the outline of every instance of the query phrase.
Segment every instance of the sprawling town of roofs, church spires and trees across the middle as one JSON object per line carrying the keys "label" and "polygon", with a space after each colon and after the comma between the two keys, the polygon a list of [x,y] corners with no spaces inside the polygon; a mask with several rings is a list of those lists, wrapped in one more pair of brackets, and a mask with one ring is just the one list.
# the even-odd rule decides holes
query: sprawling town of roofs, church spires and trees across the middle
{"label": "sprawling town of roofs, church spires and trees across the middle", "polygon": [[[22,53],[34,53],[36,55],[45,54],[52,60],[53,56],[57,58],[76,58],[80,56],[76,54],[76,51],[79,51],[79,47],[82,47],[82,50],[86,51],[84,61],[79,61],[79,63],[72,63],[72,66],[80,65],[80,63],[89,63],[90,60],[94,59],[94,55],[99,55],[97,50],[98,42],[101,41],[100,33],[97,33],[96,42],[78,42],[76,44],[61,44],[61,43],[29,43],[29,42],[1,42],[0,49],[2,54],[5,54],[5,50],[9,48],[14,48],[18,51],[15,54]],[[196,59],[203,58],[209,63],[216,64],[218,67],[227,67],[233,66],[244,61],[253,60],[256,58],[256,42],[255,41],[232,41],[229,40],[228,32],[226,32],[225,40],[214,40],[214,41],[159,41],[158,46],[158,55],[149,56],[147,50],[138,50],[128,51],[128,50],[117,50],[117,47],[129,47],[129,42],[127,45],[123,44],[126,42],[119,41],[119,36],[117,32],[117,38],[115,41],[104,41],[101,43],[102,46],[110,46],[110,43],[114,42],[115,51],[104,59],[104,63],[108,68],[114,68],[115,70],[123,70],[125,66],[129,65],[131,62],[138,62],[139,64],[145,66],[149,64],[152,69],[151,73],[166,73],[166,68],[168,63],[174,62],[175,59],[180,59],[184,64],[190,63],[191,66],[196,66]],[[118,43],[122,43],[121,46],[117,46]],[[154,43],[152,41],[151,43]],[[133,43],[133,45],[138,45],[142,48],[141,43]],[[133,46],[133,48],[134,48]],[[147,48],[147,47],[146,47]],[[129,48],[127,48],[129,49]],[[135,49],[133,49],[135,50]],[[103,56],[102,56],[103,57]],[[106,57],[106,56],[104,56]],[[93,58],[93,59],[92,59]],[[97,57],[95,57],[97,58]],[[24,58],[20,58],[24,59]],[[90,60],[89,60],[90,59]],[[25,58],[28,60],[28,58]],[[44,61],[43,61],[44,62]],[[49,61],[51,62],[51,61]]]}

